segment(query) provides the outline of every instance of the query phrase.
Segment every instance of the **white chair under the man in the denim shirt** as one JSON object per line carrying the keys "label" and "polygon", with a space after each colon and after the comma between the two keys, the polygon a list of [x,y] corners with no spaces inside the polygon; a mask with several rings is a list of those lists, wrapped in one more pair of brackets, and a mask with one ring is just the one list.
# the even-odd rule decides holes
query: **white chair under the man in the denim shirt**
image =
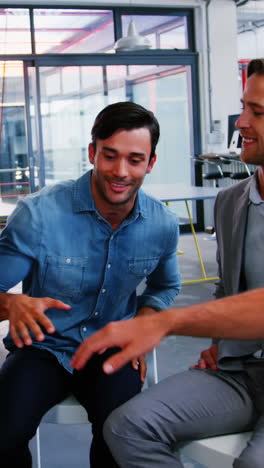
{"label": "white chair under the man in the denim shirt", "polygon": [[[157,369],[157,354],[156,349],[152,351],[147,357],[148,372],[146,382],[151,386],[158,382],[158,369]],[[76,400],[73,395],[69,395],[65,400],[53,406],[42,418],[44,423],[52,424],[89,424],[87,419],[86,410]],[[36,454],[37,454],[37,467],[41,468],[41,453],[40,453],[40,434],[39,428],[36,432]]]}

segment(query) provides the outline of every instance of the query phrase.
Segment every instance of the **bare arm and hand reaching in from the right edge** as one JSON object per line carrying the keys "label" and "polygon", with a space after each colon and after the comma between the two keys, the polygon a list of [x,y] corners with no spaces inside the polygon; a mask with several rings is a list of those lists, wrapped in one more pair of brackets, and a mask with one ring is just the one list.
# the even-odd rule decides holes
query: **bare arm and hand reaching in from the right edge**
{"label": "bare arm and hand reaching in from the right edge", "polygon": [[153,349],[168,335],[264,338],[264,288],[110,323],[82,343],[72,366],[81,369],[95,352],[118,346],[122,351],[104,364],[105,372],[112,373],[138,354]]}

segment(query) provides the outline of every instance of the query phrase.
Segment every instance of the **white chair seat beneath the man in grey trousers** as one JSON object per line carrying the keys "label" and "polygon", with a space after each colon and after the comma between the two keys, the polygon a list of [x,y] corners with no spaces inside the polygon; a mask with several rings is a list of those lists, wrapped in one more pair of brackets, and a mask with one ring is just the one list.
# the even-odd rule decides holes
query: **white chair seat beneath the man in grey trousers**
{"label": "white chair seat beneath the man in grey trousers", "polygon": [[187,442],[181,452],[208,468],[232,468],[234,459],[245,448],[251,432],[209,437]]}

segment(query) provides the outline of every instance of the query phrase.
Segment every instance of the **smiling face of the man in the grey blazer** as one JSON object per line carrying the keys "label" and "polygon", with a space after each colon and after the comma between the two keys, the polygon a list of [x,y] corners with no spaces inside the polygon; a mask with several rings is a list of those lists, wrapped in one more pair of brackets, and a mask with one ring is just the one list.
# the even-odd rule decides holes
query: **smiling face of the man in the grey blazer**
{"label": "smiling face of the man in the grey blazer", "polygon": [[254,73],[247,80],[243,110],[236,122],[242,136],[242,161],[264,165],[264,75]]}

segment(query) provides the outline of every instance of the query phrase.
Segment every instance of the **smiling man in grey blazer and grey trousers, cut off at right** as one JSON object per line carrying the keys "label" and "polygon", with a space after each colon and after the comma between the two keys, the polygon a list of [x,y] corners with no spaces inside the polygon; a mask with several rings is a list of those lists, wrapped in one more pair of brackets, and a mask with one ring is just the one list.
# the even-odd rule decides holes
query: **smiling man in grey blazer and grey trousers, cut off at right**
{"label": "smiling man in grey blazer and grey trousers, cut off at right", "polygon": [[[262,59],[249,64],[242,106],[237,122],[241,158],[258,169],[216,200],[217,297],[264,285]],[[182,441],[253,430],[251,443],[234,467],[263,468],[263,344],[261,340],[219,340],[202,353],[194,369],[161,381],[115,410],[105,425],[105,438],[118,465],[182,468],[177,451]]]}

